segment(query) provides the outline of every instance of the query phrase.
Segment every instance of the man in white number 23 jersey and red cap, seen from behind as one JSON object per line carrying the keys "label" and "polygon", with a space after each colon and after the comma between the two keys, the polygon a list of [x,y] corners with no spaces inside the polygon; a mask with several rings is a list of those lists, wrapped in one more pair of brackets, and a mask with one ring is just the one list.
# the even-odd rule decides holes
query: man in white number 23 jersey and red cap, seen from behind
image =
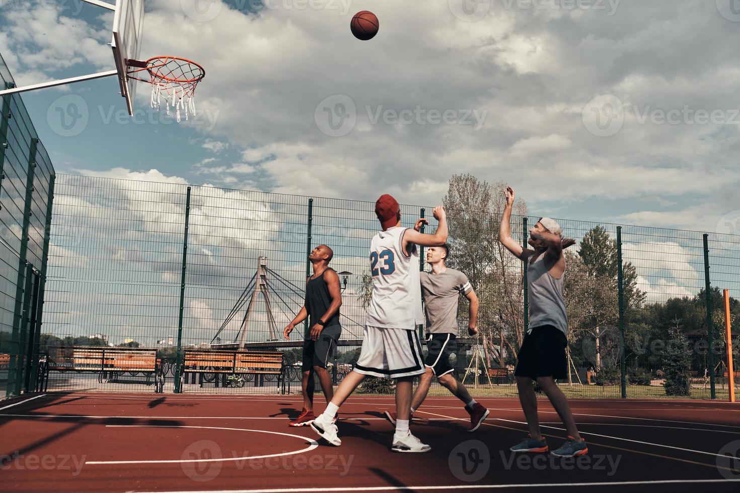
{"label": "man in white number 23 jersey and red cap, seen from behind", "polygon": [[429,452],[431,447],[408,431],[411,381],[415,375],[425,373],[416,333],[417,325],[424,320],[417,245],[444,245],[447,241],[447,215],[443,207],[434,208],[434,218],[439,221],[435,234],[419,232],[425,220],[418,220],[413,229],[402,228],[401,209],[390,195],[377,200],[375,215],[383,231],[375,235],[370,246],[373,288],[360,358],[334,392],[326,410],[312,422],[311,428],[332,445],[341,445],[337,425],[334,424],[340,405],[367,375],[394,378],[397,420],[391,450]]}

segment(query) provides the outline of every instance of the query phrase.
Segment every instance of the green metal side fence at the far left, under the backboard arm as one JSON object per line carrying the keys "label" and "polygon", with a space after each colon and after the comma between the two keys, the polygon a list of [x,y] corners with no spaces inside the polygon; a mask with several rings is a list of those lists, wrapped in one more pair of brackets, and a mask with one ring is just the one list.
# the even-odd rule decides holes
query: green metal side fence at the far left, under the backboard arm
{"label": "green metal side fence at the far left, under the backboard arm", "polygon": [[[15,86],[0,57],[0,86]],[[33,391],[54,169],[18,95],[0,118],[0,395]]]}

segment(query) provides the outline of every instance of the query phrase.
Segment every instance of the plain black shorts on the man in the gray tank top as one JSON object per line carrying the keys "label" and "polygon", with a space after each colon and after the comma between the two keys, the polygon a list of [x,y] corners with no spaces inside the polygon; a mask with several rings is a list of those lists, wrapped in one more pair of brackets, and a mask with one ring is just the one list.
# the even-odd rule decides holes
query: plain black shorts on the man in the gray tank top
{"label": "plain black shorts on the man in the gray tank top", "polygon": [[522,348],[517,355],[517,369],[514,375],[519,377],[552,377],[563,380],[568,377],[568,357],[565,347],[568,339],[562,330],[552,325],[534,327],[524,336]]}

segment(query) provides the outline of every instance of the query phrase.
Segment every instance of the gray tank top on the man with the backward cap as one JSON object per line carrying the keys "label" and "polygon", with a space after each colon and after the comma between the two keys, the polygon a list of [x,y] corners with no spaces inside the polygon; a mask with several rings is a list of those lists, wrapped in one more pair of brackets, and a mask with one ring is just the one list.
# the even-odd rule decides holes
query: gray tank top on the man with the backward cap
{"label": "gray tank top on the man with the backward cap", "polygon": [[542,325],[552,325],[568,335],[568,313],[562,296],[562,282],[550,275],[545,267],[545,254],[534,263],[527,261],[529,287],[529,330]]}

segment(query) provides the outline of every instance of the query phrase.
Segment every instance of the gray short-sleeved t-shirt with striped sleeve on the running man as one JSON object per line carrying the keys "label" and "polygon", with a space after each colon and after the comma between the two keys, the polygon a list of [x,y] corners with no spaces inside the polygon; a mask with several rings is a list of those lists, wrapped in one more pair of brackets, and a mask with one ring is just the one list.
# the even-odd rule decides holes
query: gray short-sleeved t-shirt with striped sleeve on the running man
{"label": "gray short-sleeved t-shirt with striped sleeve on the running man", "polygon": [[473,290],[468,276],[448,268],[440,274],[422,272],[420,281],[427,333],[457,336],[457,302]]}

